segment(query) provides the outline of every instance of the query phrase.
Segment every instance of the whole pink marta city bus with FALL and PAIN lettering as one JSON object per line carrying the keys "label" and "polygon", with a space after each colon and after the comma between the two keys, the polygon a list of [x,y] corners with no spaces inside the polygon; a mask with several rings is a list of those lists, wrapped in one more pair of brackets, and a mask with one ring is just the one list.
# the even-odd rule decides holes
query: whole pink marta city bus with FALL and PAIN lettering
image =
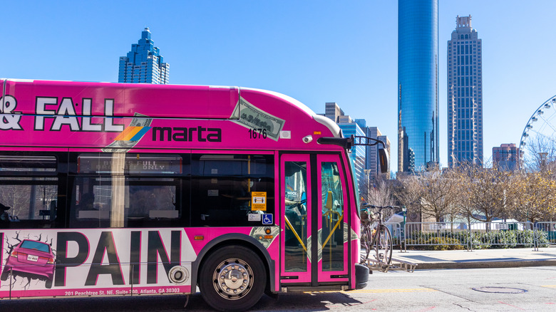
{"label": "whole pink marta city bus with FALL and PAIN lettering", "polygon": [[242,311],[264,293],[366,285],[354,139],[297,100],[0,83],[1,300],[200,291]]}

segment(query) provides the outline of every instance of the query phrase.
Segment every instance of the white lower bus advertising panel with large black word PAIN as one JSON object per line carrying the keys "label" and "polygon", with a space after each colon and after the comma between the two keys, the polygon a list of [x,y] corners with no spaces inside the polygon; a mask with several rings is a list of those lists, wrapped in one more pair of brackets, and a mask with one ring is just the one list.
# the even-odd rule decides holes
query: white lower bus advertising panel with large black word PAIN
{"label": "white lower bus advertising panel with large black word PAIN", "polygon": [[[191,281],[170,281],[174,267],[190,276],[195,251],[183,229],[5,231],[0,298],[187,293]],[[51,258],[26,242],[46,245]],[[38,256],[34,256],[39,254]],[[46,264],[45,261],[50,263]],[[11,274],[11,276],[10,276]]]}

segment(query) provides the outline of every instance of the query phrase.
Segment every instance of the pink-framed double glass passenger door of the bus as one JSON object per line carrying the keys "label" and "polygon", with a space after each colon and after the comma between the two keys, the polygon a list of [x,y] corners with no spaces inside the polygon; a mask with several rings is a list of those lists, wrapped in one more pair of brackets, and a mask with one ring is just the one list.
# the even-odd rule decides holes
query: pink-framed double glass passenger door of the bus
{"label": "pink-framed double glass passenger door of the bus", "polygon": [[282,155],[282,284],[348,281],[346,185],[339,155]]}

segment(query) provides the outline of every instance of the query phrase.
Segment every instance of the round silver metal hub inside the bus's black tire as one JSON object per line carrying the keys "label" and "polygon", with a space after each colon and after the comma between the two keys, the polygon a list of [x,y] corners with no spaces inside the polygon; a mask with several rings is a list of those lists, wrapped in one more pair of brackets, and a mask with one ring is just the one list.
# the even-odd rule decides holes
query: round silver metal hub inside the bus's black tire
{"label": "round silver metal hub inside the bus's black tire", "polygon": [[222,261],[212,277],[217,293],[232,300],[245,296],[253,285],[253,271],[240,259]]}

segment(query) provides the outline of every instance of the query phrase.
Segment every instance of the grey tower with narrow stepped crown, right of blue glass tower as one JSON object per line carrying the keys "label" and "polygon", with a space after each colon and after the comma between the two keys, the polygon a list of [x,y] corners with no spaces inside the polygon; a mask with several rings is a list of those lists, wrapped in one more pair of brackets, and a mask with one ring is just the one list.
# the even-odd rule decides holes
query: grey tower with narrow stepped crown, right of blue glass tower
{"label": "grey tower with narrow stepped crown, right of blue glass tower", "polygon": [[448,41],[448,167],[483,165],[481,68],[481,40],[471,16],[458,16]]}

